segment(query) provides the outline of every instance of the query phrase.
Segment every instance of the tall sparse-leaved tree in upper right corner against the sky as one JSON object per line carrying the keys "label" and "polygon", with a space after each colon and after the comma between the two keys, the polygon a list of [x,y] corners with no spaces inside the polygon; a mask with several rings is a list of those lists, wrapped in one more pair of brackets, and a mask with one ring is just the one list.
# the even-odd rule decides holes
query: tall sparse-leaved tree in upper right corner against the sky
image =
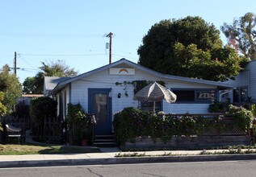
{"label": "tall sparse-leaved tree in upper right corner against the sky", "polygon": [[246,13],[239,19],[234,19],[233,24],[224,23],[221,31],[229,40],[229,45],[237,48],[241,54],[256,60],[256,15]]}

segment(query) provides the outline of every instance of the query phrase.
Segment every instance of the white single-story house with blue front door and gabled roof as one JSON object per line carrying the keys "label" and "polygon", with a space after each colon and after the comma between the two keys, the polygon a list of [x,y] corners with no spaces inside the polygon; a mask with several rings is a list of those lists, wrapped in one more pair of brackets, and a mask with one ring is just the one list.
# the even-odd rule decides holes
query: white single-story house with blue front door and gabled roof
{"label": "white single-story house with blue front door and gabled roof", "polygon": [[208,105],[219,101],[220,92],[233,91],[233,86],[223,82],[161,74],[125,59],[64,78],[50,88],[49,85],[54,85],[51,80],[56,79],[45,77],[44,95],[50,92],[56,98],[57,114],[65,119],[67,105],[80,103],[96,117],[95,134],[111,134],[113,115],[126,107],[153,109],[152,103],[133,99],[134,83],[140,80],[162,81],[177,95],[175,103],[156,103],[156,108],[165,113],[208,113]]}

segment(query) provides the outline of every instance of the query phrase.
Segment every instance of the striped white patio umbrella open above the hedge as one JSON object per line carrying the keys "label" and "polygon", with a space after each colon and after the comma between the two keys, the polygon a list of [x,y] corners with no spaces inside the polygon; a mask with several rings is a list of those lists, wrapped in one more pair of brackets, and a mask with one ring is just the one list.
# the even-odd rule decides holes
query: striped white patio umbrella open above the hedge
{"label": "striped white patio umbrella open above the hedge", "polygon": [[177,96],[168,88],[154,82],[137,92],[134,95],[134,99],[138,101],[153,102],[153,112],[155,112],[156,101],[166,100],[168,103],[172,103],[176,101]]}

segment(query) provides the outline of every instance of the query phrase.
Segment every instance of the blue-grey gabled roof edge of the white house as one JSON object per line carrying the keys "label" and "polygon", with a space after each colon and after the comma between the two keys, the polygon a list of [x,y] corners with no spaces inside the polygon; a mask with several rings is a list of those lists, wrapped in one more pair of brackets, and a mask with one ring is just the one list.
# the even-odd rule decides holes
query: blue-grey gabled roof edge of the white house
{"label": "blue-grey gabled roof edge of the white house", "polygon": [[225,84],[223,82],[216,82],[216,81],[211,81],[211,80],[201,80],[201,79],[192,79],[192,78],[183,77],[183,76],[174,76],[174,75],[162,74],[162,73],[159,73],[159,72],[155,72],[155,71],[153,71],[149,68],[145,68],[144,66],[141,66],[141,64],[135,64],[132,61],[129,61],[129,60],[126,60],[126,59],[121,59],[121,60],[118,60],[118,61],[116,61],[112,64],[107,64],[103,67],[96,68],[96,69],[94,69],[90,72],[85,72],[85,73],[83,73],[79,76],[75,76],[75,77],[72,77],[70,79],[63,80],[59,84],[57,84],[57,86],[53,89],[53,92],[57,92],[59,89],[65,87],[66,84],[69,84],[69,83],[71,83],[75,80],[80,80],[83,77],[93,75],[97,72],[102,72],[105,69],[113,68],[113,67],[118,66],[120,64],[127,64],[128,66],[131,66],[132,68],[139,69],[143,72],[147,72],[147,73],[152,74],[154,76],[158,76],[162,79],[179,80],[179,81],[185,81],[185,82],[189,82],[189,83],[198,83],[198,84],[209,84],[209,85],[218,86],[219,88],[233,88],[233,86],[231,86],[230,84]]}

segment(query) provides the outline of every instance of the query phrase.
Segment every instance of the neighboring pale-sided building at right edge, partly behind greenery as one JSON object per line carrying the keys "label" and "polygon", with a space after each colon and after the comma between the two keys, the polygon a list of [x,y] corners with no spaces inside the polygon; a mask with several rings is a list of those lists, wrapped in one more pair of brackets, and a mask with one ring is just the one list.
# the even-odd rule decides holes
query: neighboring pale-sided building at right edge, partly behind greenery
{"label": "neighboring pale-sided building at right edge, partly behind greenery", "polygon": [[228,80],[225,84],[232,84],[234,87],[233,93],[228,96],[233,103],[256,102],[256,60],[251,60],[235,80]]}

